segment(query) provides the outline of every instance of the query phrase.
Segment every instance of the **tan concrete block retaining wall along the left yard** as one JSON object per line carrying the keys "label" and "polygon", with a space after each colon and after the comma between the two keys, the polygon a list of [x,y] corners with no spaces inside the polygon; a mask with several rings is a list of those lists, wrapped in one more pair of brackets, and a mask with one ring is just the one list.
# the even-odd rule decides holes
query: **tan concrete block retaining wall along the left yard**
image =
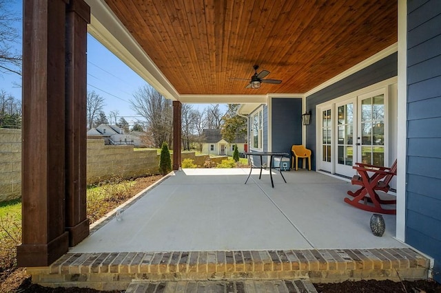
{"label": "tan concrete block retaining wall along the left yard", "polygon": [[[133,146],[104,145],[102,138],[88,139],[87,184],[114,176],[140,177],[157,174],[159,155],[156,150],[134,151]],[[203,167],[208,155],[182,153]],[[220,163],[226,157],[211,160]],[[21,130],[0,129],[0,202],[21,197]]]}

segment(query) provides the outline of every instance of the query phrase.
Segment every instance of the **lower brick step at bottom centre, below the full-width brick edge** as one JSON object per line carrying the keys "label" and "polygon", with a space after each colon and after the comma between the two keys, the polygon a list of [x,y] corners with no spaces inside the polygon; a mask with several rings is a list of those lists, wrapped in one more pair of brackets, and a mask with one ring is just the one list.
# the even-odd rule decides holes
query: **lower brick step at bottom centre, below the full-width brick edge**
{"label": "lower brick step at bottom centre, below the full-width brick edge", "polygon": [[172,293],[172,292],[214,292],[214,293],[317,293],[309,280],[278,281],[135,281],[130,283],[125,293]]}

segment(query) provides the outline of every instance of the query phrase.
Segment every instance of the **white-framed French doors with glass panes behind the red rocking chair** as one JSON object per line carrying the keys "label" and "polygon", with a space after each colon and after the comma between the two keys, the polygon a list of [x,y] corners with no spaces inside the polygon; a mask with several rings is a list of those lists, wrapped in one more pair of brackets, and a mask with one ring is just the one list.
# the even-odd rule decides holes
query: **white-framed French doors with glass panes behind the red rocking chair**
{"label": "white-framed French doors with glass panes behind the red rocking chair", "polygon": [[384,166],[387,103],[384,89],[318,107],[318,169],[352,177],[356,162]]}

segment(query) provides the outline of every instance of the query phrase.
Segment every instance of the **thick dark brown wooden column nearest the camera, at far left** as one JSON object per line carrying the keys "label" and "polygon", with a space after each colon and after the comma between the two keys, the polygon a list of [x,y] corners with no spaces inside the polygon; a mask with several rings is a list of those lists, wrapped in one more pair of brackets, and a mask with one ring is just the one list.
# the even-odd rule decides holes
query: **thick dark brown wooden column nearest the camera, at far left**
{"label": "thick dark brown wooden column nearest the camera, at far left", "polygon": [[64,0],[23,2],[22,244],[19,266],[68,251],[65,231]]}

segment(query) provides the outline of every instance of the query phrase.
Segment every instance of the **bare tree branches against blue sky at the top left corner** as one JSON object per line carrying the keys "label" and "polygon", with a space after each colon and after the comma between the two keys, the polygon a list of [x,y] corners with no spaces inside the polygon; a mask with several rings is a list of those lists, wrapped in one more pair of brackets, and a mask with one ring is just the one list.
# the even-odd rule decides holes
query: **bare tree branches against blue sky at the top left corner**
{"label": "bare tree branches against blue sky at the top left corner", "polygon": [[12,12],[10,6],[14,1],[0,0],[0,72],[21,75],[21,52],[17,46],[21,41],[20,33],[14,27],[21,20],[17,12]]}

